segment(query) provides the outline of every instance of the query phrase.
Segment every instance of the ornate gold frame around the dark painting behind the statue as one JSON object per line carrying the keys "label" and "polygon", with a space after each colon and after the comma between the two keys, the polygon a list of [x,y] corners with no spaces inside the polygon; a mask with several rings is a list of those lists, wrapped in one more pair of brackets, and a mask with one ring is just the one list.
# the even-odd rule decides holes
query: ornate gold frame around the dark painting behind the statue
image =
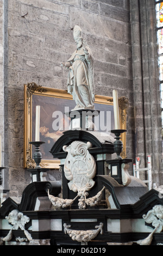
{"label": "ornate gold frame around the dark painting behind the statue", "polygon": [[[47,88],[38,86],[36,83],[24,84],[24,168],[35,168],[35,162],[32,159],[32,95],[43,95],[47,97],[57,97],[61,99],[72,100],[72,96],[66,90]],[[95,96],[95,103],[104,105],[113,105],[110,96]],[[118,98],[120,112],[120,129],[126,129],[126,114],[128,108],[128,99],[126,97]],[[122,158],[126,157],[126,132],[122,133],[123,151]],[[42,168],[59,169],[59,160],[43,160]]]}

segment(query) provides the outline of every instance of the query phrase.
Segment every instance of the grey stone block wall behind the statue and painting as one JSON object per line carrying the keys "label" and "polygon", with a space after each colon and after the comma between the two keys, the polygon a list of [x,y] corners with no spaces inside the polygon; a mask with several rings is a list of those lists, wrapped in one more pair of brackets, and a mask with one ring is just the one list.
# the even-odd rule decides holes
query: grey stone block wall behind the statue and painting
{"label": "grey stone block wall behind the statue and painting", "polygon": [[67,70],[61,68],[60,63],[66,61],[76,49],[72,30],[74,25],[82,28],[83,37],[95,58],[96,94],[112,96],[112,90],[118,89],[118,96],[129,99],[127,156],[133,158],[134,102],[129,0],[1,2],[5,15],[4,165],[8,167],[5,189],[10,190],[10,196],[21,196],[30,182],[29,173],[23,169],[23,84],[34,81],[45,87],[66,89]]}

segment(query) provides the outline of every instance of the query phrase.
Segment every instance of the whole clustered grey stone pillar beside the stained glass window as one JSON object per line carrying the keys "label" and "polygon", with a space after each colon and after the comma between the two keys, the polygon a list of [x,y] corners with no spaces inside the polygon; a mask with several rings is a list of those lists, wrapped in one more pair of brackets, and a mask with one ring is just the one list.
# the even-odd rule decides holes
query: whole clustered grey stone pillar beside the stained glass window
{"label": "whole clustered grey stone pillar beside the stained glass window", "polygon": [[153,182],[161,185],[161,106],[155,1],[130,0],[135,104],[135,153],[140,168],[151,155]]}

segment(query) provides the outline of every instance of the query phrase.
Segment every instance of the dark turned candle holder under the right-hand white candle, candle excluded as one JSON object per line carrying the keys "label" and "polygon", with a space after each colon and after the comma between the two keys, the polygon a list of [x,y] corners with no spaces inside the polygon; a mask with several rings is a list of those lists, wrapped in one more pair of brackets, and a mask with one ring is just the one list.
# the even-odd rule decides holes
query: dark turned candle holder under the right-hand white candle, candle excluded
{"label": "dark turned candle holder under the right-hand white candle, candle excluded", "polygon": [[127,130],[111,130],[111,132],[114,133],[116,136],[116,141],[114,142],[114,151],[117,154],[116,158],[122,159],[120,154],[122,153],[123,143],[122,143],[122,141],[120,141],[120,139],[121,139],[120,135],[123,132],[127,132]]}

